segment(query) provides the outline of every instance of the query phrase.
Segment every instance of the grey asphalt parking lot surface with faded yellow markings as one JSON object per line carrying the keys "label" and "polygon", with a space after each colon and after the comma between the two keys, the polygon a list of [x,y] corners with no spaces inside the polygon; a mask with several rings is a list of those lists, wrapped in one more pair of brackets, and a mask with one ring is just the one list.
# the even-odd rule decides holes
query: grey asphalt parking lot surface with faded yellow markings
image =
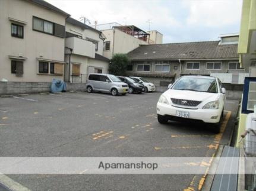
{"label": "grey asphalt parking lot surface with faded yellow markings", "polygon": [[[0,156],[211,157],[229,142],[238,101],[226,101],[222,131],[214,134],[206,124],[159,124],[159,96],[77,92],[1,98]],[[30,190],[197,190],[204,179],[193,174],[8,177]]]}

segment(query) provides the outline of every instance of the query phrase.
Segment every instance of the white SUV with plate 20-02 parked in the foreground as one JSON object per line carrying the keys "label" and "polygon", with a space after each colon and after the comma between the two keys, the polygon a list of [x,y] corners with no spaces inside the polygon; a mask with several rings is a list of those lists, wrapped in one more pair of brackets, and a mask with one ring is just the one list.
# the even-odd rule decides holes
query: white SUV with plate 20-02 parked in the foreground
{"label": "white SUV with plate 20-02 parked in the foreground", "polygon": [[160,124],[170,120],[196,119],[220,131],[226,89],[217,77],[182,76],[164,92],[157,103]]}

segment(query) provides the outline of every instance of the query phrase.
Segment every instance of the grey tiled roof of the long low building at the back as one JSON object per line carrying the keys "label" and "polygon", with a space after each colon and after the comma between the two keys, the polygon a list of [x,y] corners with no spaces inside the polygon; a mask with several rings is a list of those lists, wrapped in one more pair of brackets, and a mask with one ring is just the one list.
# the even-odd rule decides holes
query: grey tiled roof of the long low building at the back
{"label": "grey tiled roof of the long low building at the back", "polygon": [[131,60],[238,59],[238,44],[219,41],[141,45],[128,53]]}

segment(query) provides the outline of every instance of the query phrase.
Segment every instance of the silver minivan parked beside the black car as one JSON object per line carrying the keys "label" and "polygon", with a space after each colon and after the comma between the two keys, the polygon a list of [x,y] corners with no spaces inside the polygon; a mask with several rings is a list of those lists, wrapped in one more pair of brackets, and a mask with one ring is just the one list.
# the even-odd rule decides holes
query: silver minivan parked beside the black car
{"label": "silver minivan parked beside the black car", "polygon": [[111,93],[113,96],[125,95],[128,92],[128,85],[114,75],[92,73],[88,77],[86,90],[89,93],[95,90]]}

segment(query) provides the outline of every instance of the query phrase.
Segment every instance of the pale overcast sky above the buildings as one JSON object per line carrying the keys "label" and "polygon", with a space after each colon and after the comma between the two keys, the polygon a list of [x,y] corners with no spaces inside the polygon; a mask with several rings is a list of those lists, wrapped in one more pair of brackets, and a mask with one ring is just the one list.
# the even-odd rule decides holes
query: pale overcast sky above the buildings
{"label": "pale overcast sky above the buildings", "polygon": [[[163,43],[218,40],[239,33],[242,0],[46,0],[91,25],[118,22],[163,34]],[[87,24],[89,24],[87,22]]]}

